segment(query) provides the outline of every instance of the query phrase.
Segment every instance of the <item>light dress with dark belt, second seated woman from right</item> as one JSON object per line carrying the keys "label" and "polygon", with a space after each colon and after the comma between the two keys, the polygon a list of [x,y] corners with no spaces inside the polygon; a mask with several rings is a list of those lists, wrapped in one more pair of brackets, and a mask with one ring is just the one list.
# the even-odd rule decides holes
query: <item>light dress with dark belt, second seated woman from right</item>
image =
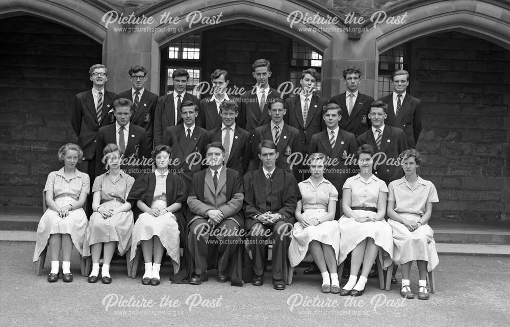
{"label": "light dress with dark belt, second seated woman from right", "polygon": [[[379,192],[388,193],[386,183],[372,175],[365,181],[360,174],[350,177],[345,181],[344,189],[351,190],[351,208],[373,208],[374,211],[355,209],[358,216],[374,217],[377,211]],[[389,267],[393,260],[393,235],[390,224],[385,220],[358,222],[354,218],[343,215],[338,220],[340,226],[340,255],[338,263],[342,263],[347,255],[364,239],[371,237],[375,245],[380,246],[382,256],[379,253],[379,260],[384,269]]]}

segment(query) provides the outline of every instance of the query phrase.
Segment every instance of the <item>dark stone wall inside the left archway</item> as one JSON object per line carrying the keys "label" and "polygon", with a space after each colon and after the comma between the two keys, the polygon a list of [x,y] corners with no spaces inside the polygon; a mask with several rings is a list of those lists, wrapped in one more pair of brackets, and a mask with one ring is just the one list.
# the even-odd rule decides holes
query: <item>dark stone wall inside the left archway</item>
{"label": "dark stone wall inside the left archway", "polygon": [[17,16],[0,20],[0,206],[41,206],[57,151],[75,142],[74,94],[91,87],[88,69],[102,47],[60,24]]}

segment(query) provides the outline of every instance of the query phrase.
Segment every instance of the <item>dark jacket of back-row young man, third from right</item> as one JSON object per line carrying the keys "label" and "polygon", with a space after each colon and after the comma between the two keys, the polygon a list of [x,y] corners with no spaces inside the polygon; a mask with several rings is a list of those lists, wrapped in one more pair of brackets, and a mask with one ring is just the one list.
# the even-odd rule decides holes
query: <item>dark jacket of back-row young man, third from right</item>
{"label": "dark jacket of back-row young man, third from right", "polygon": [[303,125],[303,109],[301,108],[301,98],[299,95],[285,99],[287,114],[284,116],[285,123],[291,125],[299,131],[300,152],[308,152],[312,136],[326,129],[326,124],[322,118],[322,107],[327,104],[327,99],[312,95],[309,104],[307,124]]}

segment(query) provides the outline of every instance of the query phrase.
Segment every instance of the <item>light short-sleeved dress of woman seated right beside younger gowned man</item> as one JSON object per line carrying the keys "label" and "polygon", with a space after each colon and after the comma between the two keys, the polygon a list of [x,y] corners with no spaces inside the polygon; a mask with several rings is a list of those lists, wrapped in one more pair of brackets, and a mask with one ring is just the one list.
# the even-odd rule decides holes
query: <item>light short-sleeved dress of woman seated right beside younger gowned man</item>
{"label": "light short-sleeved dress of woman seated right beside younger gowned man", "polygon": [[[338,201],[337,189],[326,179],[315,187],[309,178],[300,182],[298,187],[301,192],[303,218],[320,218],[327,214],[330,200]],[[308,247],[313,240],[331,245],[335,250],[335,258],[338,258],[340,230],[336,221],[324,221],[317,226],[307,228],[303,228],[298,221],[294,224],[289,245],[288,257],[292,267],[297,266],[308,255]]]}

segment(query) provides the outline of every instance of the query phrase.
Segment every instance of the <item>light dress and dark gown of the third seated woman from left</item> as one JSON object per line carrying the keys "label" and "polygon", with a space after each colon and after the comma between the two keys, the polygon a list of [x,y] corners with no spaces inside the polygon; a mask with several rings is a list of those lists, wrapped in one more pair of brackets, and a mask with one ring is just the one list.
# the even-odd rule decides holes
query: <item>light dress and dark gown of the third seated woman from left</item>
{"label": "light dress and dark gown of the third seated woman from left", "polygon": [[[151,179],[156,181],[154,186],[150,186],[152,184]],[[136,180],[133,190],[130,198],[140,199],[152,209],[163,209],[173,203],[186,202],[186,186],[183,179],[168,171],[165,174],[160,174],[156,170],[150,174],[141,175]],[[149,199],[150,195],[148,194],[154,195]],[[141,241],[158,236],[171,258],[173,271],[177,272],[181,265],[179,235],[179,224],[173,213],[168,212],[159,217],[151,216],[146,212],[141,213],[133,227],[131,258],[135,258],[136,248]]]}

